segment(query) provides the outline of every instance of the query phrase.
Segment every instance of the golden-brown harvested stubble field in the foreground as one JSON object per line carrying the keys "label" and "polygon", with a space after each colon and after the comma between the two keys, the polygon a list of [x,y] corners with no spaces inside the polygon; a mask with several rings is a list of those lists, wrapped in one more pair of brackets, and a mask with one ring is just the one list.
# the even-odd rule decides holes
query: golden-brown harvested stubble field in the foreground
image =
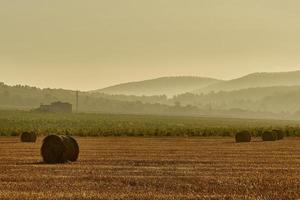
{"label": "golden-brown harvested stubble field in the foreground", "polygon": [[299,199],[300,139],[76,138],[48,165],[37,143],[0,138],[0,199]]}

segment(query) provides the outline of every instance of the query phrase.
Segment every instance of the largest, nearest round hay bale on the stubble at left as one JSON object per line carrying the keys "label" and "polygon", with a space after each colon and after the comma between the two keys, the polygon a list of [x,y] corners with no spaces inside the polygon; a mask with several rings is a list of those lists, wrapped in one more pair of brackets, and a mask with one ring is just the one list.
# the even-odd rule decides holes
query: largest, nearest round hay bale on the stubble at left
{"label": "largest, nearest round hay bale on the stubble at left", "polygon": [[78,159],[79,145],[71,136],[49,135],[43,140],[41,154],[45,163],[74,162]]}

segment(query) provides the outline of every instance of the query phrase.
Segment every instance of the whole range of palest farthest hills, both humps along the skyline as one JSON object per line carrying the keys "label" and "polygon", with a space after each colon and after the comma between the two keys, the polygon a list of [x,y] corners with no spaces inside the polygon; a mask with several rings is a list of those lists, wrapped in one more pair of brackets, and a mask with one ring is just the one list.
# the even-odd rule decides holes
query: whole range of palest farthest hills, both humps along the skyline
{"label": "whole range of palest farthest hills, both humps along the skyline", "polygon": [[163,77],[138,82],[129,82],[92,92],[113,95],[179,95],[184,93],[209,93],[218,91],[234,91],[256,87],[298,86],[300,85],[300,71],[291,72],[262,72],[253,73],[232,80],[218,80],[202,77]]}

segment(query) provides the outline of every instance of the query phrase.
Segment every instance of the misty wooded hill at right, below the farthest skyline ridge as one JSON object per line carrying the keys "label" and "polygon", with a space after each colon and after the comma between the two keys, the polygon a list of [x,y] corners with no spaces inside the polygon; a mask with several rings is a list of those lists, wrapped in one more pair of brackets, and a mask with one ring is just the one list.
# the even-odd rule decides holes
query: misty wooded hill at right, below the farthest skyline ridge
{"label": "misty wooded hill at right, below the farthest skyline ridge", "polygon": [[263,112],[300,111],[300,86],[256,87],[207,94],[186,93],[172,99],[201,109],[242,109]]}

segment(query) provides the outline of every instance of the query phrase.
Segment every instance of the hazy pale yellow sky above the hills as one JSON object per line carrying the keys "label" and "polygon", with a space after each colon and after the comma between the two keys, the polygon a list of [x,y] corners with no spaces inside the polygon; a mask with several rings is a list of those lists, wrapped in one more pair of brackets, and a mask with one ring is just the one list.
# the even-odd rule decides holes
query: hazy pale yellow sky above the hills
{"label": "hazy pale yellow sky above the hills", "polygon": [[300,69],[299,0],[0,0],[0,82],[98,89]]}

